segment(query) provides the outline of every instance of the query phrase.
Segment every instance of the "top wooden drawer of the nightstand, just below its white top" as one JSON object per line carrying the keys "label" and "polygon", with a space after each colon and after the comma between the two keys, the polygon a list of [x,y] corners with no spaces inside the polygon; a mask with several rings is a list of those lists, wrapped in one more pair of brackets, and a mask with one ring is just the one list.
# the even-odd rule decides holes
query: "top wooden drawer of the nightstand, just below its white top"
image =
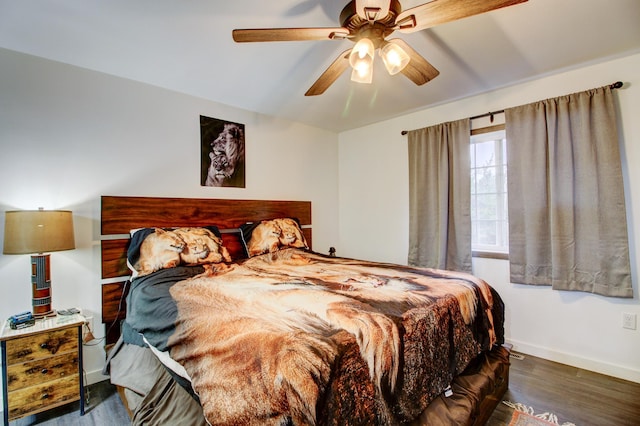
{"label": "top wooden drawer of the nightstand, just below its white top", "polygon": [[78,331],[66,328],[13,339],[7,344],[7,365],[78,351]]}

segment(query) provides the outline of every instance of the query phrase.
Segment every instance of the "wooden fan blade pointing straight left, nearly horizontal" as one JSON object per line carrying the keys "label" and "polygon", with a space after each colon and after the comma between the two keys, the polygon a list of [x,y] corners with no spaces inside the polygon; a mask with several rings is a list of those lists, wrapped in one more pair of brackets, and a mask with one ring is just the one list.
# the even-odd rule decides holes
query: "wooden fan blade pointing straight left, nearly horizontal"
{"label": "wooden fan blade pointing straight left, nearly horizontal", "polygon": [[332,40],[346,38],[346,28],[260,28],[233,30],[233,40],[237,43],[261,41],[303,41]]}

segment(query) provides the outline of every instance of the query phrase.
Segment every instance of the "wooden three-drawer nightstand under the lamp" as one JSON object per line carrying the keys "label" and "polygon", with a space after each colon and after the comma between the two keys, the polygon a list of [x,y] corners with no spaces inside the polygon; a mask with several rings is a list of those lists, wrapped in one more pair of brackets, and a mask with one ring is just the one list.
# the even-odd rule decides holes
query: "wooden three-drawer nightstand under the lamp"
{"label": "wooden three-drawer nightstand under the lamp", "polygon": [[58,315],[13,330],[5,322],[2,344],[4,424],[80,401],[84,415],[81,315]]}

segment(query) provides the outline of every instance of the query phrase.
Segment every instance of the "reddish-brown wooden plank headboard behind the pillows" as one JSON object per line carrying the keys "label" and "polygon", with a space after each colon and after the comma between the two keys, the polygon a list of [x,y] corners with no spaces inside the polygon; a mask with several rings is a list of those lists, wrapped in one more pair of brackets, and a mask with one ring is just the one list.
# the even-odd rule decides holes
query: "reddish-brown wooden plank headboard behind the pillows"
{"label": "reddish-brown wooden plank headboard behind the pillows", "polygon": [[102,197],[102,323],[107,324],[106,340],[113,343],[120,330],[111,326],[125,318],[123,294],[130,275],[126,254],[129,232],[147,227],[215,225],[222,232],[225,247],[233,260],[244,258],[238,227],[278,217],[300,220],[311,247],[311,202],[269,200],[220,200],[210,198]]}

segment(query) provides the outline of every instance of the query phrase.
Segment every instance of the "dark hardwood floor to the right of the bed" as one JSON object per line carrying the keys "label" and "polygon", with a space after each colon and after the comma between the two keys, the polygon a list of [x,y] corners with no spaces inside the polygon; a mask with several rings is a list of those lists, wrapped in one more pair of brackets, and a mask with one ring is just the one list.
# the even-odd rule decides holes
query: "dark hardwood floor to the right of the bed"
{"label": "dark hardwood floor to the right of the bed", "polygon": [[[503,399],[550,412],[576,426],[639,426],[640,384],[525,355],[511,358]],[[488,426],[509,424],[513,409],[498,404]]]}

